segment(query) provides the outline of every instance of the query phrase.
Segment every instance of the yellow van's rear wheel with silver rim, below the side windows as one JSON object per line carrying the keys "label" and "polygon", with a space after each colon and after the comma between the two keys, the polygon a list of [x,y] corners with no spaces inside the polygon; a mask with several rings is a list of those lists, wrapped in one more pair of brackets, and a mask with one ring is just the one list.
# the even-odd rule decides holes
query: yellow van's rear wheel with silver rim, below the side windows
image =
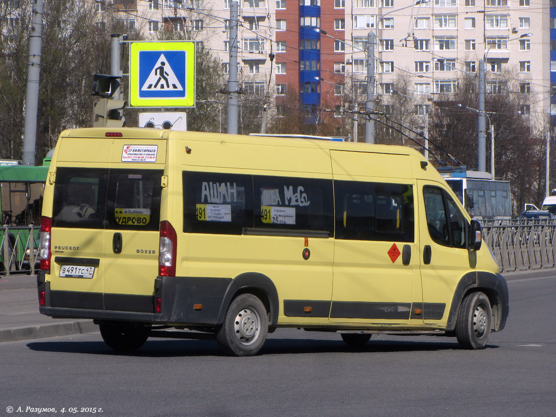
{"label": "yellow van's rear wheel with silver rim, below the side windows", "polygon": [[216,333],[220,347],[230,355],[253,356],[265,344],[269,319],[264,304],[252,294],[237,296]]}

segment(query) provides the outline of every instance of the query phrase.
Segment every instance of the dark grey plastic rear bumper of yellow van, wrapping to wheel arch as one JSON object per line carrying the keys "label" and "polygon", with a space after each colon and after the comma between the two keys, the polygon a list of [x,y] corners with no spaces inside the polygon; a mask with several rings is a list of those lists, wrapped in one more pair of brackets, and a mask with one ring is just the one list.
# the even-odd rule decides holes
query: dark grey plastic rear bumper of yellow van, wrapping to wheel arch
{"label": "dark grey plastic rear bumper of yellow van, wrapping to wheel arch", "polygon": [[[217,326],[224,321],[226,306],[237,291],[234,280],[225,278],[158,276],[153,295],[51,290],[44,278],[44,272],[39,272],[38,292],[44,291],[44,306],[39,306],[39,311],[64,319]],[[157,304],[160,312],[155,311]]]}

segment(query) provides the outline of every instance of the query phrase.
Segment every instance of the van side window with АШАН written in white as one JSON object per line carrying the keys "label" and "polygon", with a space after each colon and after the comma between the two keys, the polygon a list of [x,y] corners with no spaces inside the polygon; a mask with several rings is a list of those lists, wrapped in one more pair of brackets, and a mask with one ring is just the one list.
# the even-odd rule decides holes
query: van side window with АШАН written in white
{"label": "van side window with \u0410\u0428\u0410\u041d written in white", "polygon": [[253,227],[251,175],[183,172],[183,231],[241,235]]}

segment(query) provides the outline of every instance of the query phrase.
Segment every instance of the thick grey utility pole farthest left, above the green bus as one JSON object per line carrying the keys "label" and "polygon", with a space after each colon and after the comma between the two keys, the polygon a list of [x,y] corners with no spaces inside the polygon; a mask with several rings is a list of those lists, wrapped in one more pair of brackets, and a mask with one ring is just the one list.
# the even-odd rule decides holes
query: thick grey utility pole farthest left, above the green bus
{"label": "thick grey utility pole farthest left, above the green bus", "polygon": [[37,143],[37,114],[39,76],[41,74],[43,0],[34,0],[31,33],[29,34],[29,69],[25,96],[25,125],[23,130],[23,165],[34,166]]}

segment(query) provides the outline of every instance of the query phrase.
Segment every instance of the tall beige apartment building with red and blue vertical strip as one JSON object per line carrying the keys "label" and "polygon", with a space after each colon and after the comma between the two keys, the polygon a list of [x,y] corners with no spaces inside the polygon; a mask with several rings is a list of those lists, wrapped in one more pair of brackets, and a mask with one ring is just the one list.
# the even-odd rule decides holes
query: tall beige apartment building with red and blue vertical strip
{"label": "tall beige apartment building with red and blue vertical strip", "polygon": [[[133,19],[146,36],[164,29],[204,42],[227,72],[230,1],[113,0],[112,7]],[[415,96],[453,93],[458,79],[476,73],[484,58],[487,94],[518,86],[524,95],[522,114],[545,115],[551,102],[556,114],[556,99],[550,98],[551,86],[556,86],[556,31],[549,30],[556,28],[555,4],[556,0],[240,0],[242,97],[264,97],[270,79],[269,100],[277,107],[292,89],[308,110],[337,107],[346,97],[363,105],[368,34],[373,31],[375,94],[383,102],[388,102],[400,77]]]}

